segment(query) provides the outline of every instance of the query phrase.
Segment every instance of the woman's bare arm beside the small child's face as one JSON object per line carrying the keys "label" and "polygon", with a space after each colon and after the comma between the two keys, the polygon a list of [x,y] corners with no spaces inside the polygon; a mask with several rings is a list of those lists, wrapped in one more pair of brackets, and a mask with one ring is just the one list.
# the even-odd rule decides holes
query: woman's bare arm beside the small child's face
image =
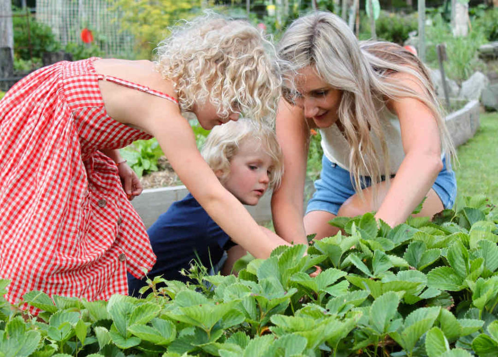
{"label": "woman's bare arm beside the small child's face", "polygon": [[302,108],[280,100],[276,135],[284,157],[284,173],[280,187],[273,192],[271,212],[275,232],[296,244],[308,244],[303,225],[303,195],[309,128]]}

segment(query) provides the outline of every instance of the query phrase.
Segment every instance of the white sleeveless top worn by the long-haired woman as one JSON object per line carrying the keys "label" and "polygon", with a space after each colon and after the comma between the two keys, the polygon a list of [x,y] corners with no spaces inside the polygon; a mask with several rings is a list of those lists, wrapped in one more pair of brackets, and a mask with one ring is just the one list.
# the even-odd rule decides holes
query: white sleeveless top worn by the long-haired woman
{"label": "white sleeveless top worn by the long-haired woman", "polygon": [[[389,153],[389,168],[391,175],[395,174],[404,159],[404,150],[401,142],[401,128],[399,119],[384,106],[379,114],[384,138],[387,141],[387,151]],[[338,164],[345,170],[349,169],[349,155],[351,146],[343,136],[337,125],[333,124],[328,128],[320,129],[322,135],[322,148],[325,156],[331,161]],[[380,154],[379,167],[384,167],[384,158],[382,157],[382,147],[380,140],[372,132],[370,136],[375,146],[375,150]],[[366,172],[360,172],[361,175],[367,175]]]}

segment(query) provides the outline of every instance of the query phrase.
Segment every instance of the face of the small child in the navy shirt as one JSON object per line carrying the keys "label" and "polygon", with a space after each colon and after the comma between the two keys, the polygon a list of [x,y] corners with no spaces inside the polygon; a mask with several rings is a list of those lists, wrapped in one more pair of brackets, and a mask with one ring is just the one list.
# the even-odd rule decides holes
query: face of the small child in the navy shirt
{"label": "face of the small child in the navy shirt", "polygon": [[[271,157],[255,140],[244,140],[230,161],[230,173],[223,183],[243,204],[254,206],[266,192],[273,170]],[[221,176],[222,172],[217,172]]]}

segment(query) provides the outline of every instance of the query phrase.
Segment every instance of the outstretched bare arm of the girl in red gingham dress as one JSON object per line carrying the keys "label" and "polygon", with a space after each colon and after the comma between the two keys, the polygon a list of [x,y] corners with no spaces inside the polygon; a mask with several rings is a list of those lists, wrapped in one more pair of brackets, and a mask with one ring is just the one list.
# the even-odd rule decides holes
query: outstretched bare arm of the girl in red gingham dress
{"label": "outstretched bare arm of the girl in red gingham dress", "polygon": [[278,245],[289,245],[276,235],[264,234],[240,201],[222,186],[201,156],[192,128],[180,113],[171,114],[167,119],[148,119],[141,125],[157,138],[194,198],[236,243],[257,258],[268,257]]}

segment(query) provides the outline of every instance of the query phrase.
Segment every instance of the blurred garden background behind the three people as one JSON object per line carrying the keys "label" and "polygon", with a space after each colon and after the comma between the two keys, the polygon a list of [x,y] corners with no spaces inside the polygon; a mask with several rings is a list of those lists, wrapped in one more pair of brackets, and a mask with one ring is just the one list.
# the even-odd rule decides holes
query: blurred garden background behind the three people
{"label": "blurred garden background behind the three people", "polygon": [[[448,113],[480,101],[481,126],[458,149],[459,198],[484,194],[498,202],[498,0],[0,0],[0,98],[15,81],[57,60],[152,59],[169,26],[206,9],[247,19],[274,41],[300,14],[327,9],[361,40],[412,46],[431,69]],[[195,118],[191,123],[201,146],[207,131]],[[320,171],[319,142],[314,132],[310,180]],[[168,169],[154,139],[135,142],[123,155],[143,177]],[[168,185],[181,184],[171,177]]]}

